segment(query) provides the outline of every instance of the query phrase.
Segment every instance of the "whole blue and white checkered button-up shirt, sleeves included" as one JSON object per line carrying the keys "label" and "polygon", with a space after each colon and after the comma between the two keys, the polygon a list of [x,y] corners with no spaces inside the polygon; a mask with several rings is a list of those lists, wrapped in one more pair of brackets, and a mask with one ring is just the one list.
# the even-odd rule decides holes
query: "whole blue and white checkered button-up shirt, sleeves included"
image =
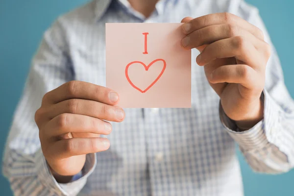
{"label": "whole blue and white checkered button-up shirt, sleeves included", "polygon": [[161,0],[149,18],[126,0],[93,0],[59,17],[45,33],[16,110],[3,172],[17,196],[242,196],[235,142],[254,171],[294,166],[294,101],[272,47],[263,92],[264,120],[238,132],[219,108],[192,50],[192,108],[125,109],[113,123],[109,150],[88,154],[80,176],[57,183],[40,150],[34,113],[43,95],[70,80],[105,86],[105,23],[177,23],[231,12],[269,35],[258,10],[243,0]]}

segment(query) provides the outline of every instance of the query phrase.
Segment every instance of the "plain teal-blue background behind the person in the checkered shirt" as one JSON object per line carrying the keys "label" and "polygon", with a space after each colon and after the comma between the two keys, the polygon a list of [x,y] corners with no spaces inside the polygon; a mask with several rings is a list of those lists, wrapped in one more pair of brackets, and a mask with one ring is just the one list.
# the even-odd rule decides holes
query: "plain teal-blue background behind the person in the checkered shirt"
{"label": "plain teal-blue background behind the person in the checkered shirt", "polygon": [[[86,0],[0,0],[0,152],[16,104],[21,96],[30,60],[44,31],[56,17]],[[247,0],[257,6],[267,25],[285,74],[285,83],[294,97],[294,1]],[[293,196],[294,171],[281,175],[256,174],[241,161],[245,196]],[[3,196],[12,195],[0,176]]]}

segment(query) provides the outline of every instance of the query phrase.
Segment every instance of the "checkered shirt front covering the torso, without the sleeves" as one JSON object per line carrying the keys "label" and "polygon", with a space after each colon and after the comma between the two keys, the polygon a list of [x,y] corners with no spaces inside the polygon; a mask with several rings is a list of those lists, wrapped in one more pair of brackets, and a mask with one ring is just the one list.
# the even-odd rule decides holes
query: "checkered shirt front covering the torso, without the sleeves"
{"label": "checkered shirt front covering the torso, without the sleeves", "polygon": [[[143,20],[113,1],[96,21],[103,10],[96,3],[61,21],[67,27],[74,79],[105,86],[105,23]],[[229,0],[163,0],[157,4],[158,15],[144,22],[178,23],[186,16],[230,11],[232,4]],[[243,195],[234,141],[220,122],[219,97],[203,68],[196,65],[197,54],[193,49],[192,108],[125,109],[124,122],[112,123],[113,132],[106,136],[110,149],[97,153],[97,167],[80,195]]]}

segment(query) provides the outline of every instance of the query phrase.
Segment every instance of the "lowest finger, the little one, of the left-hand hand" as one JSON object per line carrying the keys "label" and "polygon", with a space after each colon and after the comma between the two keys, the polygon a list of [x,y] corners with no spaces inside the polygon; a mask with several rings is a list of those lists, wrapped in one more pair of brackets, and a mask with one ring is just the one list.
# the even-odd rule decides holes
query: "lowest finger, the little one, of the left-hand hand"
{"label": "lowest finger, the little one, of the left-hand hand", "polygon": [[71,138],[55,142],[49,150],[55,158],[105,151],[110,147],[106,138]]}

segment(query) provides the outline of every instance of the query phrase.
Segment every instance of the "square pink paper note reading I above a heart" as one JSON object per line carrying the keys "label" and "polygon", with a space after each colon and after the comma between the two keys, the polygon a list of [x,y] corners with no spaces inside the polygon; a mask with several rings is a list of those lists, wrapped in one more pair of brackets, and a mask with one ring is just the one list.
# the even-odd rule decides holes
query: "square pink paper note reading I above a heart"
{"label": "square pink paper note reading I above a heart", "polygon": [[180,23],[106,24],[106,87],[123,108],[191,107],[191,50]]}

